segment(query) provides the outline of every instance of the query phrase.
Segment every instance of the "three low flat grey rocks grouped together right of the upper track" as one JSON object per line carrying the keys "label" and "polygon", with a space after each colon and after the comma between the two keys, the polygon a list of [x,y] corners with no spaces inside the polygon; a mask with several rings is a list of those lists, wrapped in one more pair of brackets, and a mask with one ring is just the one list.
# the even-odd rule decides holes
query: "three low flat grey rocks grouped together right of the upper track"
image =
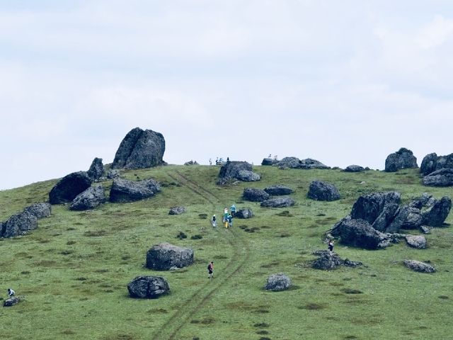
{"label": "three low flat grey rocks grouped together right of the upper track", "polygon": [[[289,195],[294,191],[287,186],[269,186],[264,189],[244,188],[242,198],[252,202],[260,202],[262,207],[285,208],[295,204],[292,198],[281,195]],[[273,197],[280,196],[280,197]]]}

